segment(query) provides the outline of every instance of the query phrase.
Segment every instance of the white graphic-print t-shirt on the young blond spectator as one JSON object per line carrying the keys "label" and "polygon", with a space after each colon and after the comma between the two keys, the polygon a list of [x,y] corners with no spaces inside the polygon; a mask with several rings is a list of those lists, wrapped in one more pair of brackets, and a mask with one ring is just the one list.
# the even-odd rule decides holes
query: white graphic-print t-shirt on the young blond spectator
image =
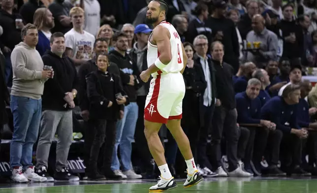
{"label": "white graphic-print t-shirt on the young blond spectator", "polygon": [[94,49],[95,36],[89,32],[83,31],[81,34],[71,29],[65,33],[66,48],[73,50],[73,58],[79,60],[91,60]]}

